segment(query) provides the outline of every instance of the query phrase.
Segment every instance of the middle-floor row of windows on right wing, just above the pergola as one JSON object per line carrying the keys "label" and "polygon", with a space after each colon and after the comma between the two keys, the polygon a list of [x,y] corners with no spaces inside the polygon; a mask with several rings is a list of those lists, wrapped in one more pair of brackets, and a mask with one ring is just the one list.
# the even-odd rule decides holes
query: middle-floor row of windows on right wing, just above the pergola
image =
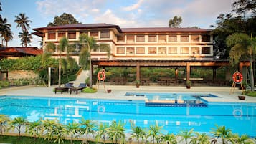
{"label": "middle-floor row of windows on right wing, just above the pergola", "polygon": [[117,47],[116,54],[211,54],[210,47]]}

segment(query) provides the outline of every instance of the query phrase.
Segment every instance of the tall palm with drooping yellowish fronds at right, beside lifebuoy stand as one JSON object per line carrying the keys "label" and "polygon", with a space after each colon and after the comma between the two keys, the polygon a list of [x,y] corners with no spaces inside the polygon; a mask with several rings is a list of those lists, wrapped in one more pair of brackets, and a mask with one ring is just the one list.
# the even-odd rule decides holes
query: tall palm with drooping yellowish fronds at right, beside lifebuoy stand
{"label": "tall palm with drooping yellowish fronds at right, beside lifebuoy stand", "polygon": [[250,57],[250,85],[251,90],[254,91],[254,77],[252,68],[252,55],[256,52],[256,38],[249,37],[247,34],[234,33],[227,37],[226,43],[232,47],[229,52],[229,57],[233,64],[238,64],[242,56]]}

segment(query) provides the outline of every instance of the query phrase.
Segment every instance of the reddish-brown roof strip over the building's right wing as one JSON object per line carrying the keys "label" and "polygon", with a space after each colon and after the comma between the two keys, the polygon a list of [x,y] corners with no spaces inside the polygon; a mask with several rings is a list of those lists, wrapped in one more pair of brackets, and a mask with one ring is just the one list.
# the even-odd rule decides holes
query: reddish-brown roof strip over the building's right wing
{"label": "reddish-brown roof strip over the building's right wing", "polygon": [[179,27],[136,27],[122,28],[125,33],[129,32],[211,32],[212,29],[199,29],[195,27],[179,28]]}

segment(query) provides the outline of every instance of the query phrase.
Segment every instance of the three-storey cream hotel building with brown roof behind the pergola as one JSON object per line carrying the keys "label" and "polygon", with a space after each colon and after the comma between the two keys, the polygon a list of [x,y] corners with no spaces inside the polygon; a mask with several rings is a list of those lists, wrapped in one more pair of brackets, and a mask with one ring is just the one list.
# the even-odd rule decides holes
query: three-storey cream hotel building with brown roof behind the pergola
{"label": "three-storey cream hotel building with brown roof behind the pergola", "polygon": [[[148,59],[184,60],[213,59],[213,37],[211,29],[141,27],[120,28],[113,24],[69,24],[34,29],[42,37],[43,46],[49,42],[59,43],[67,37],[71,56],[79,59],[79,37],[85,33],[104,45],[91,52],[92,59]],[[57,51],[54,52],[57,54]]]}

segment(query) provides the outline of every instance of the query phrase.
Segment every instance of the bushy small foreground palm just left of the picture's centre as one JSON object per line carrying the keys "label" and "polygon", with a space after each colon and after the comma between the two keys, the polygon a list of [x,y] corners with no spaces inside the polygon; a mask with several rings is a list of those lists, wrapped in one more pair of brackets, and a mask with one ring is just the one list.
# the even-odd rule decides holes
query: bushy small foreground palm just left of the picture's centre
{"label": "bushy small foreground palm just left of the picture's centre", "polygon": [[115,143],[118,143],[118,140],[121,138],[121,140],[125,140],[125,128],[124,124],[120,121],[116,123],[113,121],[108,128],[108,137],[111,138],[111,140],[115,140]]}

